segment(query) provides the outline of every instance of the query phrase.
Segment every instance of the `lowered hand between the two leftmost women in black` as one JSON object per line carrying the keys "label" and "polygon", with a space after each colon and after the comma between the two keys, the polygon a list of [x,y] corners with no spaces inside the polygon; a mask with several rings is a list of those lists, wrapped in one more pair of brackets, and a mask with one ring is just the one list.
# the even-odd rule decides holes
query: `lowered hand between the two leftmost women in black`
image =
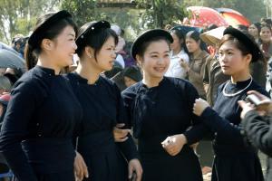
{"label": "lowered hand between the two leftmost women in black", "polygon": [[73,162],[73,170],[76,181],[82,181],[84,177],[89,177],[88,168],[81,154],[75,151],[76,155]]}

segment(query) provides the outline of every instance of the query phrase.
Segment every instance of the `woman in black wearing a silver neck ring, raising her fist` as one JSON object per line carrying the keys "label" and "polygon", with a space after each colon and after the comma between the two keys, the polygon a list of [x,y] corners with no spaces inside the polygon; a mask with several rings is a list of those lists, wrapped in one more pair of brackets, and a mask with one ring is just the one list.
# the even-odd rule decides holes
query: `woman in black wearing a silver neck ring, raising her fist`
{"label": "woman in black wearing a silver neck ring, raising her fist", "polygon": [[262,57],[257,43],[235,28],[227,28],[219,43],[219,63],[223,73],[231,76],[222,84],[213,109],[205,100],[196,100],[194,113],[215,132],[212,181],[262,181],[262,167],[253,148],[241,135],[238,100],[245,100],[248,90],[266,90],[253,81],[249,63]]}

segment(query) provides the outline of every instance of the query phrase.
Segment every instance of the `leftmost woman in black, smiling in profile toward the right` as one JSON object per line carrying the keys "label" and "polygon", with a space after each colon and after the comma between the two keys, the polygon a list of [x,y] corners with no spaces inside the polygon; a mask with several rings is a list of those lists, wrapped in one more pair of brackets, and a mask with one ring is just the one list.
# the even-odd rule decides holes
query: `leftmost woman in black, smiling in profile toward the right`
{"label": "leftmost woman in black, smiling in profile toward the right", "polygon": [[44,14],[29,38],[30,71],[15,83],[0,150],[20,181],[74,181],[73,131],[82,116],[61,69],[72,64],[76,25],[66,11]]}

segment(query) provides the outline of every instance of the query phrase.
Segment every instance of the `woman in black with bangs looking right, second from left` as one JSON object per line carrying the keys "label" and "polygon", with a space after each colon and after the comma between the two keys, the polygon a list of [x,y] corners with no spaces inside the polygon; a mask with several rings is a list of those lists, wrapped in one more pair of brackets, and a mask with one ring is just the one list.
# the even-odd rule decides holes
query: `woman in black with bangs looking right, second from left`
{"label": "woman in black with bangs looking right, second from left", "polygon": [[101,76],[102,71],[112,69],[117,43],[118,36],[108,22],[84,24],[76,39],[80,61],[75,72],[67,75],[83,107],[77,149],[92,173],[85,181],[126,181],[132,172],[141,180],[141,164],[131,136],[115,143],[112,134],[117,123],[126,124],[121,92]]}

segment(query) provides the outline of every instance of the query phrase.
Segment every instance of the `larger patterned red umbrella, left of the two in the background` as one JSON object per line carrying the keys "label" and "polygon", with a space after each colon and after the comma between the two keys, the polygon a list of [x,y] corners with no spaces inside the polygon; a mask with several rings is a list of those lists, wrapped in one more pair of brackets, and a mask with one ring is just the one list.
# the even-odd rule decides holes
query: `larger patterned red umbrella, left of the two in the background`
{"label": "larger patterned red umbrella, left of the two in the background", "polygon": [[209,24],[228,26],[225,19],[216,10],[203,6],[189,6],[187,11],[191,12],[189,23],[192,26],[206,27]]}

